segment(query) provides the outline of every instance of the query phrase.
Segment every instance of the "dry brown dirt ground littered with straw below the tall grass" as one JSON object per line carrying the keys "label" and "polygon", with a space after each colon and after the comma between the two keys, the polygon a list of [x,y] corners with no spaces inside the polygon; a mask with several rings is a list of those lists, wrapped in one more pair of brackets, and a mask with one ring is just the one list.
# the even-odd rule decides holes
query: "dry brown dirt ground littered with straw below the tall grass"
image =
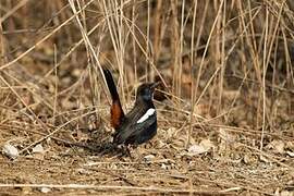
{"label": "dry brown dirt ground littered with straw below the tall grass", "polygon": [[[209,132],[195,134],[200,138],[187,150],[185,128],[179,132],[160,122],[156,138],[131,149],[131,157],[108,149],[108,142],[99,144],[99,136],[83,142],[90,148],[46,139],[40,143],[44,149],[28,150],[15,160],[2,155],[1,195],[293,194],[293,143],[277,139],[261,152],[248,135],[210,124]],[[11,143],[24,140],[19,137]]]}

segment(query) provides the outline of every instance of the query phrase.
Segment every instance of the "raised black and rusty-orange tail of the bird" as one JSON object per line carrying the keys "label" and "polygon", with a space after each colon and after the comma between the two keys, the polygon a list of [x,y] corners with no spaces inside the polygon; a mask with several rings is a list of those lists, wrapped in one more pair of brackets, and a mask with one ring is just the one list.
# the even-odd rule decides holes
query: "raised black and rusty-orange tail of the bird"
{"label": "raised black and rusty-orange tail of the bird", "polygon": [[112,105],[110,109],[111,114],[111,125],[114,127],[114,130],[118,130],[121,126],[121,123],[124,118],[124,112],[122,109],[120,96],[117,90],[117,86],[114,84],[114,79],[112,77],[112,74],[109,70],[103,69],[103,74],[107,81],[107,86],[109,88],[111,98],[112,98]]}

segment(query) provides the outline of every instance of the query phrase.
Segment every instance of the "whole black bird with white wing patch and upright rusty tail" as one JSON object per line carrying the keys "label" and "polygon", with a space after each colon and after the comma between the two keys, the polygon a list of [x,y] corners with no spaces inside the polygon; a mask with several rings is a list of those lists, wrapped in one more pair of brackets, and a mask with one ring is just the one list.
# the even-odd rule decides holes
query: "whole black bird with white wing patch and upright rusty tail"
{"label": "whole black bird with white wing patch and upright rusty tail", "polygon": [[144,83],[137,89],[133,109],[124,114],[120,97],[109,70],[103,70],[111,94],[111,125],[114,127],[113,144],[140,145],[157,134],[157,113],[152,101],[155,88],[159,83]]}

